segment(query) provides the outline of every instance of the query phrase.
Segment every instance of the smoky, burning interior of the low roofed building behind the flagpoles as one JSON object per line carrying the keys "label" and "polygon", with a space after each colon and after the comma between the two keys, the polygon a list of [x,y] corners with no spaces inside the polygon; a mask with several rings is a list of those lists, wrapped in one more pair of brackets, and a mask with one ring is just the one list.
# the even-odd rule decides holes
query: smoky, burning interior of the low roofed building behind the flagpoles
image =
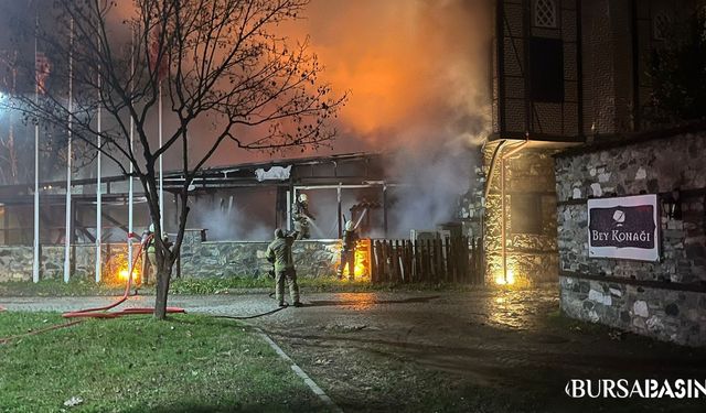
{"label": "smoky, burning interior of the low roofed building behind the flagpoles", "polygon": [[[296,227],[296,199],[308,200],[312,242],[338,243],[346,221],[355,224],[360,236],[355,250],[353,278],[356,281],[372,280],[371,239],[409,239],[420,230],[436,233],[428,225],[434,213],[419,211],[420,199],[410,203],[411,194],[424,191],[414,183],[395,174],[387,156],[376,153],[354,153],[333,156],[304,157],[275,162],[248,163],[215,167],[203,171],[190,187],[189,233],[184,247],[188,251],[195,242],[267,242],[275,228],[293,230]],[[94,180],[74,180],[71,244],[74,248],[107,248],[103,264],[103,278],[126,280],[129,274],[126,247],[129,232],[140,233],[149,225],[149,215],[141,193],[135,193],[132,222],[128,217],[128,181],[122,177],[104,177],[101,214],[101,239],[96,240],[96,187]],[[164,225],[172,235],[178,228],[178,218],[183,208],[175,192],[183,183],[179,173],[164,174],[165,199]],[[137,185],[136,185],[137,187]],[[41,185],[40,236],[45,250],[64,244],[65,182],[45,182]],[[32,242],[32,194],[20,185],[0,187],[7,194],[0,206],[0,243],[4,246],[31,244]],[[10,195],[11,194],[11,195]],[[442,199],[448,203],[449,199]],[[459,202],[459,199],[454,199]],[[450,210],[458,209],[451,202]],[[422,208],[424,209],[424,208]],[[449,217],[445,217],[448,219]],[[413,222],[417,227],[411,227]],[[29,224],[29,227],[28,227]],[[467,222],[468,224],[468,222]],[[459,224],[460,226],[461,224]],[[190,244],[191,243],[191,244]],[[138,244],[133,243],[132,257],[138,257]],[[125,249],[125,248],[122,248]],[[118,252],[121,251],[121,252]],[[186,252],[189,256],[189,252]],[[79,256],[79,254],[78,254]],[[190,256],[189,256],[190,257]],[[133,280],[141,281],[142,263],[133,269]],[[185,259],[184,259],[185,260]],[[340,247],[331,253],[330,272],[340,265]],[[188,271],[181,265],[178,272]],[[74,253],[72,268],[75,273],[82,260]],[[86,265],[88,268],[89,265]],[[81,273],[81,271],[78,271]],[[349,279],[347,269],[344,279]]]}

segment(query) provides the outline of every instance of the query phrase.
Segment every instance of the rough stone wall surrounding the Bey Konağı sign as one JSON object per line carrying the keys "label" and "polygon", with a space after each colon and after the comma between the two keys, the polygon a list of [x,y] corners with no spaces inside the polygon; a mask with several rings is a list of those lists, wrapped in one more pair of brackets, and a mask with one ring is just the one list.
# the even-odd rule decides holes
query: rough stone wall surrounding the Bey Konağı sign
{"label": "rough stone wall surrounding the Bey Kona\u011f\u0131 sign", "polygon": [[[556,159],[561,308],[570,316],[687,345],[706,344],[706,133]],[[588,257],[587,198],[680,188],[661,218],[661,260]]]}

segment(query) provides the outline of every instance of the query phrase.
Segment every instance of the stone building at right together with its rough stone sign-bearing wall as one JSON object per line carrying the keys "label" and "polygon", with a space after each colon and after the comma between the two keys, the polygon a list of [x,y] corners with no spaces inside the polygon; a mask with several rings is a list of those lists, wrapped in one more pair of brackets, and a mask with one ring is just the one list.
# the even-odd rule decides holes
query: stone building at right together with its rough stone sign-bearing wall
{"label": "stone building at right together with its rough stone sign-bearing wall", "polygon": [[[704,3],[494,1],[492,132],[482,148],[489,282],[560,281],[571,316],[706,343],[706,128],[646,116],[650,56]],[[589,198],[664,203],[673,193],[684,216],[661,210],[656,263],[589,258]]]}

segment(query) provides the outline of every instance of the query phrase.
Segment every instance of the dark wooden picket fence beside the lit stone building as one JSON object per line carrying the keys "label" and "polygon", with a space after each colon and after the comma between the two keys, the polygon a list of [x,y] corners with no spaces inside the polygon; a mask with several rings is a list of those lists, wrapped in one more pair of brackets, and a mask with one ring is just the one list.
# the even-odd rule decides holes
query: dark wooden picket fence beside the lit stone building
{"label": "dark wooden picket fence beside the lit stone building", "polygon": [[373,240],[373,283],[482,284],[480,239]]}

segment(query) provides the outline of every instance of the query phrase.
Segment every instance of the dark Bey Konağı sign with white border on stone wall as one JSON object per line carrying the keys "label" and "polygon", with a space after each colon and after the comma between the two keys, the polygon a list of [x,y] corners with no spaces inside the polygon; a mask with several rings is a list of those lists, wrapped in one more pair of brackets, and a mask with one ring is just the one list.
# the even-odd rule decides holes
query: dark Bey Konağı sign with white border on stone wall
{"label": "dark Bey Kona\u011f\u0131 sign with white border on stone wall", "polygon": [[657,196],[588,200],[588,256],[660,260]]}

